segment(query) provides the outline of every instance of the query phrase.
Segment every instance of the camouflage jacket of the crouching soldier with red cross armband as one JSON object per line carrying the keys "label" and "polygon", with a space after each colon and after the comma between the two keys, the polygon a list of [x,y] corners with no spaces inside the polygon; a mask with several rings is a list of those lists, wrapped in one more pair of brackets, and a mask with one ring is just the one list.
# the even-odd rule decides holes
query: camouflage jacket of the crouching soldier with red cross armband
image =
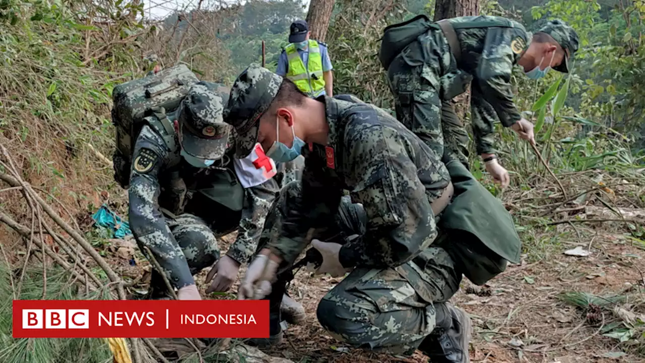
{"label": "camouflage jacket of the crouching soldier with red cross armband", "polygon": [[[232,138],[234,136],[232,135]],[[179,145],[179,143],[175,143]],[[233,145],[234,146],[234,145]],[[229,145],[232,152],[233,147]],[[230,152],[227,152],[225,157]],[[137,141],[133,154],[133,167],[130,174],[130,227],[134,236],[140,244],[146,245],[155,259],[163,269],[172,271],[170,282],[175,287],[194,284],[192,273],[177,241],[173,237],[166,220],[161,214],[160,207],[172,209],[165,202],[164,196],[168,189],[169,172],[180,171],[183,177],[190,179],[199,178],[198,169],[192,167],[179,155],[177,150],[170,150],[163,138],[155,130],[147,125],[143,127]],[[137,162],[139,158],[139,162]],[[228,156],[228,160],[232,160]],[[215,165],[221,160],[215,161]],[[143,165],[143,167],[141,167]],[[224,165],[233,169],[233,163]],[[190,183],[186,182],[186,185]],[[188,187],[190,192],[190,187]],[[277,183],[273,178],[259,185],[244,189],[244,202],[239,222],[237,239],[230,246],[228,256],[240,263],[248,261],[248,258],[255,252],[264,220],[268,214],[270,205],[279,191]],[[210,200],[205,199],[206,202]],[[173,212],[174,213],[174,212]],[[198,216],[210,223],[211,226],[217,223],[217,216]],[[179,258],[177,258],[179,257]]]}

